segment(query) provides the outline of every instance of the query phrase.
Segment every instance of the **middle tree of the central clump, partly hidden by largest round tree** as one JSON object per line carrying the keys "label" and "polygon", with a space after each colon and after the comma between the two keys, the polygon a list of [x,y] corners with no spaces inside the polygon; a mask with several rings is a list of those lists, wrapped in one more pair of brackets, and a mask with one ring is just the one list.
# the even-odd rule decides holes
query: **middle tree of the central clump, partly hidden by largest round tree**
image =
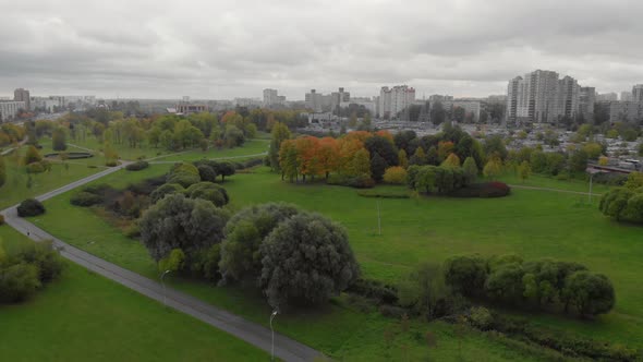
{"label": "middle tree of the central clump, partly hidden by largest round tree", "polygon": [[298,213],[295,206],[282,203],[254,205],[236,213],[226,225],[221,243],[219,270],[223,282],[256,280],[262,273],[262,242],[279,224]]}

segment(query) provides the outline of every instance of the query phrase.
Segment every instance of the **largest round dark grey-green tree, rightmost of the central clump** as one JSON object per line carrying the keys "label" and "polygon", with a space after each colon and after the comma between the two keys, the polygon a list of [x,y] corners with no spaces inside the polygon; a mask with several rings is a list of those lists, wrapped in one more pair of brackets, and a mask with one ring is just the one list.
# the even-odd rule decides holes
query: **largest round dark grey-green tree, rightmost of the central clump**
{"label": "largest round dark grey-green tree, rightmost of the central clump", "polygon": [[360,274],[345,230],[318,214],[301,213],[280,224],[260,252],[259,285],[274,307],[325,302]]}

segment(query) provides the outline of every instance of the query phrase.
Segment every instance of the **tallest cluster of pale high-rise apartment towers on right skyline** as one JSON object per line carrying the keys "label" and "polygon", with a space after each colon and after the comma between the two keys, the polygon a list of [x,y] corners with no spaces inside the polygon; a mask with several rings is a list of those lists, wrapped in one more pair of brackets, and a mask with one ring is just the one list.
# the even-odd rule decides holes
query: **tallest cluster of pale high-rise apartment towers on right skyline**
{"label": "tallest cluster of pale high-rise apartment towers on right skyline", "polygon": [[575,118],[580,109],[581,89],[571,76],[536,70],[517,76],[507,86],[507,119],[554,123]]}

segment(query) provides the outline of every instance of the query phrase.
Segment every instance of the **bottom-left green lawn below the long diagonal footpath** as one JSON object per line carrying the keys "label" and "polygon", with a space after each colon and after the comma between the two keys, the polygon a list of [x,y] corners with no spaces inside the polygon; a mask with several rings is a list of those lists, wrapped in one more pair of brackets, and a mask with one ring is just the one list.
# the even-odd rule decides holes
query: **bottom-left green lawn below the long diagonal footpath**
{"label": "bottom-left green lawn below the long diagonal footpath", "polygon": [[[4,248],[31,242],[0,226]],[[0,305],[3,361],[258,361],[269,355],[69,263],[23,304]]]}

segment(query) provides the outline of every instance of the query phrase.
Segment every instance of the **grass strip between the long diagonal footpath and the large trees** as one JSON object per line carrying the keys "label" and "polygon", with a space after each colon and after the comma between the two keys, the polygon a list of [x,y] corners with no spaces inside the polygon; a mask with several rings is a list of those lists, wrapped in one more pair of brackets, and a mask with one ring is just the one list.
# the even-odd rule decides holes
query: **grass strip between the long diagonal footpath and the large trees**
{"label": "grass strip between the long diagonal footpath and the large trees", "polygon": [[[154,174],[161,174],[166,166],[151,166],[139,172],[119,171],[109,174],[97,183],[109,183],[124,186],[130,182],[142,180]],[[146,172],[146,173],[145,173]],[[240,176],[233,176],[231,179]],[[223,185],[231,183],[227,181]],[[69,192],[45,203],[47,214],[32,218],[32,221],[66,242],[88,251],[112,263],[145,275],[158,278],[158,269],[148,256],[146,249],[138,242],[129,239],[109,225],[89,208],[72,206]],[[83,232],[70,226],[70,220],[82,225]],[[270,309],[264,298],[256,291],[243,290],[239,287],[216,288],[207,282],[169,278],[174,288],[198,297],[214,305],[229,310],[250,321],[267,325]],[[462,338],[464,343],[457,343],[453,338],[454,327],[448,324],[425,324],[413,321],[410,331],[396,333],[397,337],[387,346],[384,340],[385,328],[397,328],[395,319],[383,317],[379,313],[356,311],[344,298],[335,299],[322,311],[290,311],[279,315],[276,329],[295,338],[336,359],[356,361],[385,361],[401,359],[403,353],[410,360],[417,360],[433,353],[440,360],[456,360],[464,355],[466,360],[511,361],[543,360],[537,353],[529,355],[514,348],[494,340],[484,334],[469,331]],[[430,349],[424,342],[424,335],[432,330],[438,339],[437,348]],[[407,347],[404,347],[407,346]],[[415,358],[416,357],[416,358]]]}

